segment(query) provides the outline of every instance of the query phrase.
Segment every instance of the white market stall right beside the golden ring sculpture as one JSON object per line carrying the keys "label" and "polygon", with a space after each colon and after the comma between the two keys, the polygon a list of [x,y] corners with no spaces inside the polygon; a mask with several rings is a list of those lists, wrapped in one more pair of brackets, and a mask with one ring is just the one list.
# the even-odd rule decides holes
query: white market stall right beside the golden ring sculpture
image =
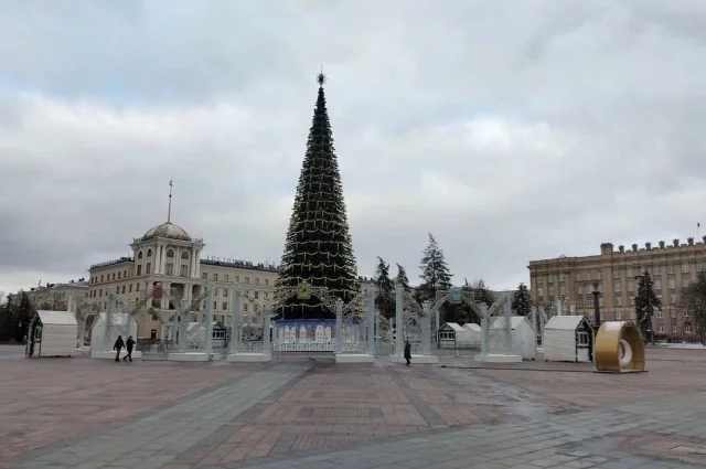
{"label": "white market stall right beside the golden ring sculpture", "polygon": [[546,361],[592,362],[593,330],[585,316],[555,316],[544,326]]}

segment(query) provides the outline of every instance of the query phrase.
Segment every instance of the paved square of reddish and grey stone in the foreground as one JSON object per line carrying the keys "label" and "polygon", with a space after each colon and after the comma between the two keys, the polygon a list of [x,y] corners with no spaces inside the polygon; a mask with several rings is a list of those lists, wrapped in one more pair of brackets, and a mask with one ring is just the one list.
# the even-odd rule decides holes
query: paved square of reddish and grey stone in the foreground
{"label": "paved square of reddish and grey stone in the foreground", "polygon": [[0,347],[0,467],[706,465],[706,352],[590,365],[115,363]]}

